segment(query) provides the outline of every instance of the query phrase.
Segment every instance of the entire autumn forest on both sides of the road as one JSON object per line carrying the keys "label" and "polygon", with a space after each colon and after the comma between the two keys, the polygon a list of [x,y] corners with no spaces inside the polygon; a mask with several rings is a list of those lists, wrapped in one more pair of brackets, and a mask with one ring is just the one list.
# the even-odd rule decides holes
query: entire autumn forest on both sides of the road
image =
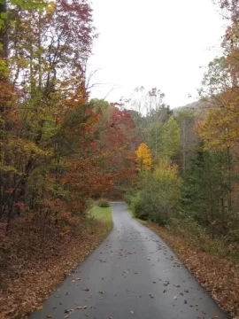
{"label": "entire autumn forest on both sides of the road", "polygon": [[89,210],[97,198],[124,198],[135,217],[238,261],[237,1],[220,8],[230,20],[223,54],[209,64],[198,103],[173,110],[160,89],[143,86],[119,103],[90,99],[97,35],[88,1],[1,1],[3,296],[27,264],[57,259],[62,243],[95,234]]}

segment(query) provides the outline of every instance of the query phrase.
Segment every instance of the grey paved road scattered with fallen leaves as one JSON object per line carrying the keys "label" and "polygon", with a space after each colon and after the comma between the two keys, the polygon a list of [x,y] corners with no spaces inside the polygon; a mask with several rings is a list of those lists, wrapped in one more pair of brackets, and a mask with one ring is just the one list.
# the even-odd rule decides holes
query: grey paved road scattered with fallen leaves
{"label": "grey paved road scattered with fallen leaves", "polygon": [[127,214],[124,203],[112,203],[112,214],[110,236],[31,319],[227,318],[163,240]]}

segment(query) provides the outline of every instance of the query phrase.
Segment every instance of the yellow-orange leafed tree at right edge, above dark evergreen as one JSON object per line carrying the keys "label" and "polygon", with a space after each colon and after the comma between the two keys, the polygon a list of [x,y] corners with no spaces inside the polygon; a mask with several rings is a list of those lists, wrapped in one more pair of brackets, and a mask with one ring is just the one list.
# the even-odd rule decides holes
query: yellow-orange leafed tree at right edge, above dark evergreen
{"label": "yellow-orange leafed tree at right edge, above dark evergreen", "polygon": [[[227,205],[230,211],[238,206],[234,195],[237,182],[233,175],[238,171],[238,25],[233,21],[227,28],[222,47],[224,56],[209,64],[204,74],[201,96],[209,109],[204,121],[197,126],[197,134],[204,141],[204,150],[227,153]],[[235,203],[233,203],[235,198]]]}

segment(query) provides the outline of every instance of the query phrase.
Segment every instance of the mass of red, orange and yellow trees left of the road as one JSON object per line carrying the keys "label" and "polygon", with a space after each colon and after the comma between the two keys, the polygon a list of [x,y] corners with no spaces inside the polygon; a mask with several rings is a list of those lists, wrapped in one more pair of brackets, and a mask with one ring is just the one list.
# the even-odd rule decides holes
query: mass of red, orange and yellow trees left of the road
{"label": "mass of red, orange and yellow trees left of the road", "polygon": [[[100,222],[89,224],[89,208],[133,183],[135,124],[124,108],[89,100],[85,66],[96,33],[88,1],[0,11],[0,308],[14,317],[37,303],[18,310],[19,277],[34,267],[42,274],[44,260],[64,254],[73,265],[70,247],[89,253],[105,235]],[[16,300],[6,302],[12,289]]]}

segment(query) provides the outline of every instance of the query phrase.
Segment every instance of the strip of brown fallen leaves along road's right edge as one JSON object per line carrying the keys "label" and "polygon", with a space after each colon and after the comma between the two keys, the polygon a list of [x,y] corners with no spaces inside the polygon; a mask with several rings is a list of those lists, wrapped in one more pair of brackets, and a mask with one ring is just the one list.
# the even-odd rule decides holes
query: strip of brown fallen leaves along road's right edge
{"label": "strip of brown fallen leaves along road's right edge", "polygon": [[212,298],[231,315],[239,318],[239,264],[238,260],[228,260],[219,256],[205,253],[197,246],[192,248],[187,239],[175,235],[151,222],[142,222],[162,237],[170,245],[174,253],[189,268],[190,272],[204,286]]}

